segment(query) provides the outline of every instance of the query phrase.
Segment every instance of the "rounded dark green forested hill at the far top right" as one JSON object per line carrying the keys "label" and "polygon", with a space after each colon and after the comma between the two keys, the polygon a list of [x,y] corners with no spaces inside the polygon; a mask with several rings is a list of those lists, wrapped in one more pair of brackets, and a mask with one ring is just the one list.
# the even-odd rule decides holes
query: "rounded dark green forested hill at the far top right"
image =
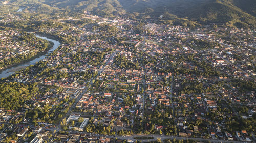
{"label": "rounded dark green forested hill at the far top right", "polygon": [[220,1],[191,8],[187,12],[187,17],[203,24],[217,23],[240,28],[255,27],[256,25],[254,16],[243,12],[238,7],[233,7]]}

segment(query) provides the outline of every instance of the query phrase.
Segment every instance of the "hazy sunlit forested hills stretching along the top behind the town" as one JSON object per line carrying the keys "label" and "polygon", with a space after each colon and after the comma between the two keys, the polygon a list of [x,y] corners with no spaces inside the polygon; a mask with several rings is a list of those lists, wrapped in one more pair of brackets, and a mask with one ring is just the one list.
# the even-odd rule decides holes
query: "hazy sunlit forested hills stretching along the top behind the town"
{"label": "hazy sunlit forested hills stretching along the top behind the town", "polygon": [[164,20],[181,18],[200,24],[256,27],[254,0],[17,0],[8,4],[16,9],[39,8],[49,13],[54,10],[83,13],[85,10],[101,16],[128,14],[138,19],[163,15]]}

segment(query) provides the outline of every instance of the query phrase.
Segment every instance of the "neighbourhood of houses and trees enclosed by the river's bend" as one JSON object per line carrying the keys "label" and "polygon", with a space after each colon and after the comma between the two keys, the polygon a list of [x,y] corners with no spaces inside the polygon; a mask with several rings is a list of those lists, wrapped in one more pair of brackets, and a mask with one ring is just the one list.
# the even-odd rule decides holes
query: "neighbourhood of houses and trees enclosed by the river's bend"
{"label": "neighbourhood of houses and trees enclosed by the river's bend", "polygon": [[0,68],[24,62],[36,54],[44,52],[51,45],[48,41],[37,39],[33,34],[17,30],[1,30]]}

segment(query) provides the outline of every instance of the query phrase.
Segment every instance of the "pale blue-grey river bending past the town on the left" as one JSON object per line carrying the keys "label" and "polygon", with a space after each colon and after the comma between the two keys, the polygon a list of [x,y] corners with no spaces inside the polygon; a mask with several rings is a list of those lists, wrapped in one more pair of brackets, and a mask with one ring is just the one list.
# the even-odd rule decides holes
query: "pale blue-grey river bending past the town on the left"
{"label": "pale blue-grey river bending past the town on the left", "polygon": [[35,35],[35,36],[38,37],[38,38],[42,38],[42,39],[53,42],[53,48],[48,50],[47,53],[45,53],[44,55],[35,56],[35,58],[32,58],[29,61],[26,61],[24,63],[20,63],[20,64],[17,64],[17,65],[8,67],[6,69],[0,70],[0,78],[8,77],[8,76],[12,75],[13,73],[15,73],[16,71],[25,69],[27,66],[35,65],[36,62],[41,61],[42,59],[44,59],[48,53],[51,53],[52,51],[56,50],[60,45],[59,41],[49,39],[47,37],[41,37],[39,35]]}

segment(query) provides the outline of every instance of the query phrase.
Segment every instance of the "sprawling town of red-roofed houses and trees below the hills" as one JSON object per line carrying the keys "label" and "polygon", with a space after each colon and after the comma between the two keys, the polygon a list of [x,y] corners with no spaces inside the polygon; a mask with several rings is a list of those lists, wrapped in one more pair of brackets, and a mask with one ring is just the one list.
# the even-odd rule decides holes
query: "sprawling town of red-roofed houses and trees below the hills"
{"label": "sprawling town of red-roofed houses and trees below the hills", "polygon": [[[1,22],[11,25],[13,17]],[[255,30],[89,13],[43,24],[34,31],[61,45],[1,79],[1,141],[256,140]],[[19,33],[2,31],[1,59],[47,48],[38,48],[42,41],[16,43]],[[4,97],[12,91],[22,99]]]}

